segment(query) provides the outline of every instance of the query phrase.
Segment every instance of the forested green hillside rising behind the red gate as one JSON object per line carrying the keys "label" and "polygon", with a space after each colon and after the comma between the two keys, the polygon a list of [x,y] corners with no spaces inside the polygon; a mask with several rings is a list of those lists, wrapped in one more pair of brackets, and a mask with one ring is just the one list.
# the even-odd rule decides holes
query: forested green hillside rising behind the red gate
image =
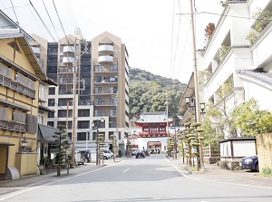
{"label": "forested green hillside rising behind the red gate", "polygon": [[166,111],[169,99],[169,116],[178,124],[178,104],[186,84],[138,68],[130,68],[130,120],[140,118],[142,112]]}

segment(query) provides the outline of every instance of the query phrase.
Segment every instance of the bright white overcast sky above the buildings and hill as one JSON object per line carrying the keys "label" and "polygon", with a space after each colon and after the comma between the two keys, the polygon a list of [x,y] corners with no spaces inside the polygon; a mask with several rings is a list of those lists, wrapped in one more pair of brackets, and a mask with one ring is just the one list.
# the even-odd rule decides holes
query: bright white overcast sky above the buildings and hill
{"label": "bright white overcast sky above the buildings and hill", "polygon": [[[194,1],[199,49],[204,45],[204,28],[218,23],[223,7],[219,0]],[[28,34],[51,42],[64,33],[73,34],[76,26],[87,40],[108,31],[126,44],[131,68],[187,83],[193,72],[189,4],[190,0],[1,0],[0,9]]]}

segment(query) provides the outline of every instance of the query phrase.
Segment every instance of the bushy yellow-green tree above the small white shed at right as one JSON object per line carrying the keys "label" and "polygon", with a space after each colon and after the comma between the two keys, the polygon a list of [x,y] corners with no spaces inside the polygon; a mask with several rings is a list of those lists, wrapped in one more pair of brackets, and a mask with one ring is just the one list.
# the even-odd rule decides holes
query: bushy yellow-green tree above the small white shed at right
{"label": "bushy yellow-green tree above the small white shed at right", "polygon": [[255,137],[260,133],[272,132],[272,113],[260,110],[253,98],[234,108],[232,116],[242,137]]}

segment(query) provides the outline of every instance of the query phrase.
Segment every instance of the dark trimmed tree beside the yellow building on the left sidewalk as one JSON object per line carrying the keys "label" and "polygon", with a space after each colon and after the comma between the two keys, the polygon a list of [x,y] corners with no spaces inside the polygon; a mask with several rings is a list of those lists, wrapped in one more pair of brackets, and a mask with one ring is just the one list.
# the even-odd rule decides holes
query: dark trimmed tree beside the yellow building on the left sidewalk
{"label": "dark trimmed tree beside the yellow building on the left sidewalk", "polygon": [[58,131],[54,132],[53,138],[54,143],[57,146],[57,153],[55,157],[55,162],[57,166],[57,176],[61,175],[61,164],[65,163],[67,169],[69,169],[69,160],[67,155],[67,149],[70,147],[70,143],[67,139],[66,127],[63,125],[58,126]]}

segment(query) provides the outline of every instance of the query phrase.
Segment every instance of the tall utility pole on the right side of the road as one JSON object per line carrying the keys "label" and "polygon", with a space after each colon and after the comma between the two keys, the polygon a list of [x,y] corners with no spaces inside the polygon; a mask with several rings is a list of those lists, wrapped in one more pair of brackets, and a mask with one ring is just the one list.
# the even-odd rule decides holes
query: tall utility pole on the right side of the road
{"label": "tall utility pole on the right side of the road", "polygon": [[[199,77],[198,77],[198,68],[197,68],[197,53],[196,53],[196,37],[195,37],[195,24],[194,24],[194,13],[193,13],[193,1],[190,0],[190,15],[191,15],[191,30],[192,30],[192,51],[193,51],[193,60],[194,60],[194,83],[195,83],[195,110],[196,110],[196,120],[197,123],[200,122],[200,111],[199,111]],[[199,137],[201,136],[199,132]],[[200,156],[200,165],[204,167],[203,162],[203,149],[202,145],[199,148]]]}

